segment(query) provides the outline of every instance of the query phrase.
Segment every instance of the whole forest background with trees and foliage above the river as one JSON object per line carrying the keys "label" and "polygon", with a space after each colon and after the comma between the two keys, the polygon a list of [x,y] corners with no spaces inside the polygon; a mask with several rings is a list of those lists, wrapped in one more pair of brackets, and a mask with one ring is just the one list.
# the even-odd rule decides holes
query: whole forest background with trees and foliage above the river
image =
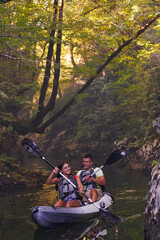
{"label": "whole forest background with trees and foliage above the river", "polygon": [[159,10],[147,0],[1,3],[0,159],[21,159],[27,136],[56,162],[124,145],[132,168],[150,168],[159,158]]}

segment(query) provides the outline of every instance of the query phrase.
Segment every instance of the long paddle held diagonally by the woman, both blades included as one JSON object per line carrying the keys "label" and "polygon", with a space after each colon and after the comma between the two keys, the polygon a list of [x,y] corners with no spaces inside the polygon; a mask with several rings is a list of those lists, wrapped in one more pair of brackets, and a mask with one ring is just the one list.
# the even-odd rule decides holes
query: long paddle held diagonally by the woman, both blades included
{"label": "long paddle held diagonally by the woman, both blades included", "polygon": [[[42,156],[39,147],[30,139],[28,138],[24,138],[22,140],[22,146],[28,151],[31,152],[33,154],[37,154],[41,159],[43,159],[48,165],[50,165],[53,169],[55,168],[50,162],[48,162],[44,156]],[[77,186],[72,183],[66,176],[63,175],[63,173],[61,173],[59,171],[59,174],[65,178],[75,189],[79,190],[77,188]],[[85,198],[88,199],[89,202],[91,202],[100,212],[100,214],[102,215],[103,218],[109,218],[111,221],[117,222],[117,221],[121,221],[121,219],[119,217],[117,217],[115,214],[109,212],[106,209],[102,209],[100,208],[95,202],[93,202],[88,196],[86,196],[84,193],[81,193]]]}

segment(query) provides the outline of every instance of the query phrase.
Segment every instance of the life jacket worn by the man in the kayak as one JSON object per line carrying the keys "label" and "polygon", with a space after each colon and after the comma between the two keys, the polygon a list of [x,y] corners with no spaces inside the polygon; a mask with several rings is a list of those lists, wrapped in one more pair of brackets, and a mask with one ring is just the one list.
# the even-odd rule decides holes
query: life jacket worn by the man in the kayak
{"label": "life jacket worn by the man in the kayak", "polygon": [[[89,171],[82,170],[79,175],[81,183],[83,184],[84,192],[86,192],[87,190],[91,190],[92,188],[98,188],[98,185],[95,182],[93,182],[93,181],[86,182],[86,180],[85,180],[86,176],[91,175],[93,173],[94,173],[94,169],[92,168]],[[93,174],[92,177],[96,178],[96,174]]]}

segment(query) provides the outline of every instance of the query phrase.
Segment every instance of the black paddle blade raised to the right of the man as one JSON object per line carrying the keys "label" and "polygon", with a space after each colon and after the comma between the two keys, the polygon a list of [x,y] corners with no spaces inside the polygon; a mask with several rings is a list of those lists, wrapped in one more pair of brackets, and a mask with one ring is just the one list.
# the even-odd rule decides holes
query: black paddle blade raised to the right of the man
{"label": "black paddle blade raised to the right of the man", "polygon": [[115,150],[113,153],[111,153],[111,155],[107,158],[105,165],[111,165],[112,163],[120,160],[125,155],[126,155],[125,148],[124,147],[119,148],[119,149]]}

